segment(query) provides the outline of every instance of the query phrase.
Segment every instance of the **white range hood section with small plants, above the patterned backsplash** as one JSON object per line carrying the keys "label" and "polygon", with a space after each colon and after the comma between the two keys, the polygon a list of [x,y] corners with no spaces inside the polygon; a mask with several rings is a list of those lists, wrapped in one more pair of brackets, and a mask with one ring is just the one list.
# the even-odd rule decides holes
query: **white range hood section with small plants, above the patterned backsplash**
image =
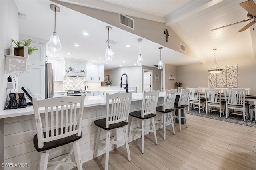
{"label": "white range hood section with small plants, above the patterned backsplash", "polygon": [[85,60],[80,59],[69,59],[65,60],[65,75],[67,76],[86,76],[86,63]]}

